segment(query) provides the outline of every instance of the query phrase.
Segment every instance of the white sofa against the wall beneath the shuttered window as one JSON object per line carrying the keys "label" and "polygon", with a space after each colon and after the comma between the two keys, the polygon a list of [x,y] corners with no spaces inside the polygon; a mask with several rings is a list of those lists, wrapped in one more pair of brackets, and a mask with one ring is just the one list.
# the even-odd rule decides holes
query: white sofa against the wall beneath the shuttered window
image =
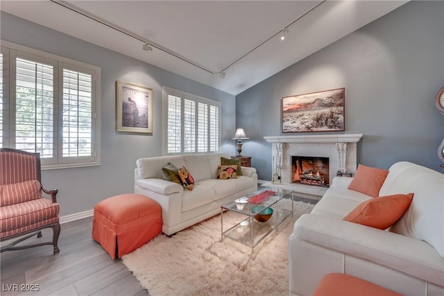
{"label": "white sofa against the wall beneath the shuttered window", "polygon": [[[257,190],[254,167],[241,167],[237,179],[216,179],[221,157],[228,154],[185,154],[139,158],[135,169],[134,192],[154,199],[162,208],[162,231],[171,235],[217,213],[221,206]],[[162,179],[162,167],[172,163],[185,166],[194,178],[194,189]]]}

